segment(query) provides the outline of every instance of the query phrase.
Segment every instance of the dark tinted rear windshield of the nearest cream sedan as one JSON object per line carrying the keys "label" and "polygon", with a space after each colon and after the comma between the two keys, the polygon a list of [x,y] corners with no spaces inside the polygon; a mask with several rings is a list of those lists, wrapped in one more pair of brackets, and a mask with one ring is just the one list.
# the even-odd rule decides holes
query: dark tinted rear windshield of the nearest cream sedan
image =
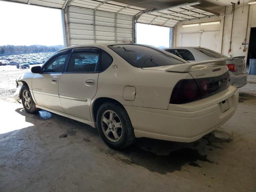
{"label": "dark tinted rear windshield of the nearest cream sedan", "polygon": [[108,46],[134,67],[147,68],[186,63],[172,54],[149,46],[120,44]]}

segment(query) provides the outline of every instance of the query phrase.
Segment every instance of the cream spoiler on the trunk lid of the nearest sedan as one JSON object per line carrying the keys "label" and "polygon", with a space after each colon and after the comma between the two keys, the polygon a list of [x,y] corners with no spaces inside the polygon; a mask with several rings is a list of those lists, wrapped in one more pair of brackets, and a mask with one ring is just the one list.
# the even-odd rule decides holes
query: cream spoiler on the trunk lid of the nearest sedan
{"label": "cream spoiler on the trunk lid of the nearest sedan", "polygon": [[202,64],[226,65],[226,60],[209,60],[209,61],[199,61],[199,62],[192,62],[192,63],[168,65],[159,70],[185,73],[185,72],[190,72],[193,66],[202,65]]}

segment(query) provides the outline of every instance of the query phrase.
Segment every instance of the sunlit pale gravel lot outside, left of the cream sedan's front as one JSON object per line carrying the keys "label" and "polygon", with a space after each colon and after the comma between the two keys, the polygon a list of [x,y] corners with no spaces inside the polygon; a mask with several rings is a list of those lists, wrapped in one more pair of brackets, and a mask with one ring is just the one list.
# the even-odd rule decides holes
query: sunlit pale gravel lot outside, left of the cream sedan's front
{"label": "sunlit pale gravel lot outside, left of the cream sedan's front", "polygon": [[30,69],[17,69],[16,66],[0,66],[0,99],[10,100],[16,91],[16,78],[29,71]]}

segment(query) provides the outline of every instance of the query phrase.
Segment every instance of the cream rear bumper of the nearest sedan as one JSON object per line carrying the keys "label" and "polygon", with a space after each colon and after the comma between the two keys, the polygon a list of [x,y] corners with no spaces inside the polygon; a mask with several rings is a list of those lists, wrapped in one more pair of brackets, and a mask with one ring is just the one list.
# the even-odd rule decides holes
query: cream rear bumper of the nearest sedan
{"label": "cream rear bumper of the nearest sedan", "polygon": [[[168,110],[124,106],[136,137],[193,142],[224,124],[236,111],[236,87],[187,104],[169,104]],[[226,101],[227,108],[223,108]]]}

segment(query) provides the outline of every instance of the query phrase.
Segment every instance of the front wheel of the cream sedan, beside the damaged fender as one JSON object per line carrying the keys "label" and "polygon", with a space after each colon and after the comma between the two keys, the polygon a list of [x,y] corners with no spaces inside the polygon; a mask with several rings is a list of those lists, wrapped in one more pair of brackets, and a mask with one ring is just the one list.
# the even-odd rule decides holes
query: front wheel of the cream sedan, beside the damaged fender
{"label": "front wheel of the cream sedan, beside the damaged fender", "polygon": [[27,86],[22,86],[20,91],[20,99],[26,112],[35,113],[40,110],[40,108],[36,108],[36,104],[33,101],[30,90]]}

